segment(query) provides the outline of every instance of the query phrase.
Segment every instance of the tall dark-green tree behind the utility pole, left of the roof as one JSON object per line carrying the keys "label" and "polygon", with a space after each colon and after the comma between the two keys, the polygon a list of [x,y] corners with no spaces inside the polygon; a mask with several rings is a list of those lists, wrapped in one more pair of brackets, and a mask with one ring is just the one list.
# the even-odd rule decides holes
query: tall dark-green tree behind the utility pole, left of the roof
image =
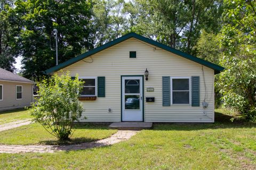
{"label": "tall dark-green tree behind the utility pole, left of the roof", "polygon": [[23,75],[39,78],[43,71],[55,65],[55,52],[49,41],[54,42],[52,30],[58,29],[59,62],[64,62],[90,48],[90,1],[79,0],[28,0],[15,2],[10,11],[19,26],[15,48],[22,55]]}

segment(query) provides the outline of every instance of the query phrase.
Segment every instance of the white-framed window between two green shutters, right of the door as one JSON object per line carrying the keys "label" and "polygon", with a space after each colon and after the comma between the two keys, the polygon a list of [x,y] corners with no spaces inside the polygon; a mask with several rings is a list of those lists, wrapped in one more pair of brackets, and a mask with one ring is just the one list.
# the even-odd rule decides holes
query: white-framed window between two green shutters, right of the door
{"label": "white-framed window between two green shutters, right of the door", "polygon": [[171,103],[190,104],[190,78],[171,78]]}

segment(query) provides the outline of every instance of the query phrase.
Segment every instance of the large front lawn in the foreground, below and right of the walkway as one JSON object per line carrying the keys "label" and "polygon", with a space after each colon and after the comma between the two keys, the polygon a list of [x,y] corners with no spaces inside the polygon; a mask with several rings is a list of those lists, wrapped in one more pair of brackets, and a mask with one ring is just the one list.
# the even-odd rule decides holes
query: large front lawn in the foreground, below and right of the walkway
{"label": "large front lawn in the foreground, below and right of the walkway", "polygon": [[222,113],[209,124],[155,124],[113,146],[0,154],[0,169],[256,169],[256,125]]}

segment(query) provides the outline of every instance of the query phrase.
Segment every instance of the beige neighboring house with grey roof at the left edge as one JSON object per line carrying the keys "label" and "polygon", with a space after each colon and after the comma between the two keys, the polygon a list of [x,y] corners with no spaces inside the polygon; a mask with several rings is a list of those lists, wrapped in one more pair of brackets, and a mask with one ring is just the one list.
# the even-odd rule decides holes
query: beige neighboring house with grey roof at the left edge
{"label": "beige neighboring house with grey roof at the left edge", "polygon": [[0,112],[30,106],[34,81],[0,68]]}

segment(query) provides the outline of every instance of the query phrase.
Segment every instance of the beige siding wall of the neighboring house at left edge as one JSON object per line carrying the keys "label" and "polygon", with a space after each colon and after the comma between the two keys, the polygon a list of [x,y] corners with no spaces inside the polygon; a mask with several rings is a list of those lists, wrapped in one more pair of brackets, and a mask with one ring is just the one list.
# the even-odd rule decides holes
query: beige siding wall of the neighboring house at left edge
{"label": "beige siding wall of the neighboring house at left edge", "polygon": [[[0,81],[3,84],[3,100],[0,100],[0,111],[30,106],[32,103],[32,83]],[[16,86],[22,86],[22,99],[16,99]]]}

